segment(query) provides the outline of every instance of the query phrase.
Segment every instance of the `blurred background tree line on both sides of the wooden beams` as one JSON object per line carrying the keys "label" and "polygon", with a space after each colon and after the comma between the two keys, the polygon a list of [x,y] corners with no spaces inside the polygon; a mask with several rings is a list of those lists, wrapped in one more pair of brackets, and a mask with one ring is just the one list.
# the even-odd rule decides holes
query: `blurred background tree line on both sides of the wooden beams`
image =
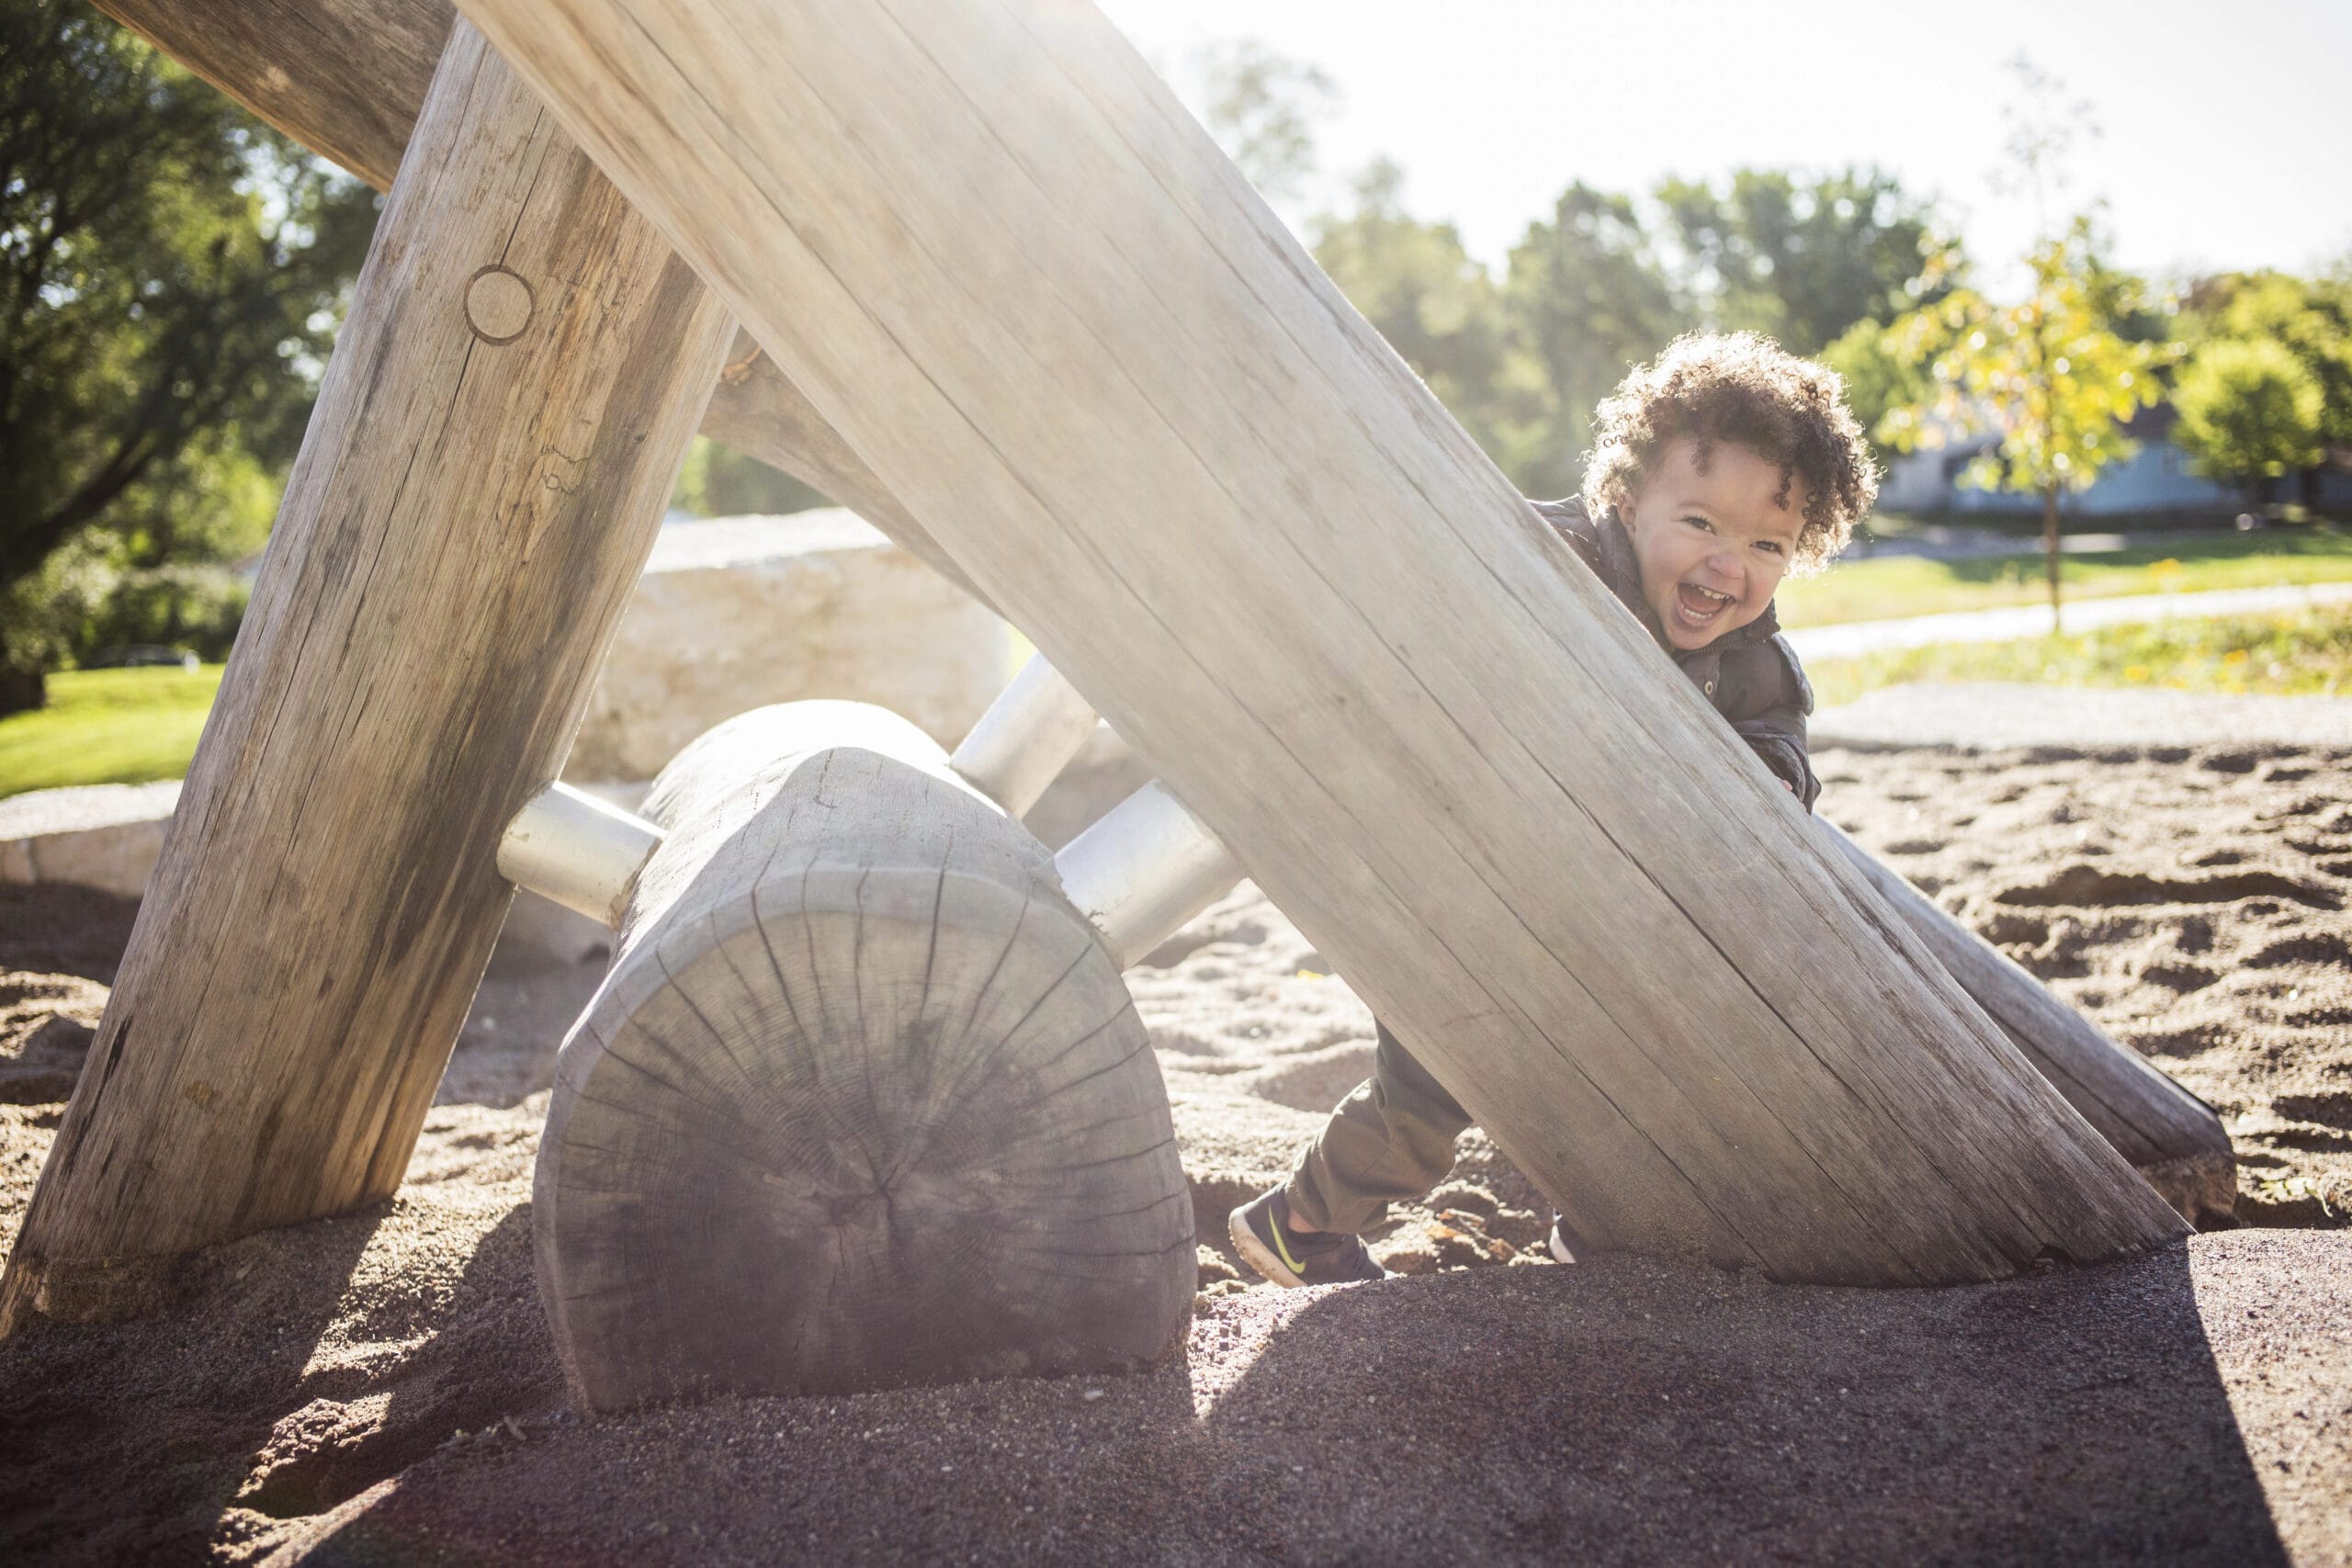
{"label": "blurred background tree line on both sides of the wooden beams", "polygon": [[[2225,275],[2159,303],[2077,226],[1997,303],[1931,202],[1867,167],[1573,183],[1494,270],[1406,209],[1390,162],[1310,205],[1336,101],[1312,66],[1240,42],[1197,75],[1211,134],[1526,494],[1576,489],[1630,364],[1740,327],[1842,369],[1889,451],[1990,421],[1992,480],[2023,489],[2086,482],[2129,449],[2117,414],[2166,388],[2178,440],[2249,494],[2352,461],[2352,277]],[[268,534],[376,209],[82,0],[0,7],[0,710],[111,646],[226,654],[230,564]],[[2086,393],[2091,367],[2138,383]],[[2004,404],[2020,388],[2042,416]],[[710,442],[675,496],[818,501]]]}

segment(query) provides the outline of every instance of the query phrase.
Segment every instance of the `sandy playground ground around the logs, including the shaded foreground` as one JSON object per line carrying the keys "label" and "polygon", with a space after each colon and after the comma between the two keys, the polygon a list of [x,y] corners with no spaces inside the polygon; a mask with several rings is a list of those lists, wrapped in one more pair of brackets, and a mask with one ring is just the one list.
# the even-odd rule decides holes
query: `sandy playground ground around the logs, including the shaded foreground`
{"label": "sandy playground ground around the logs, including the shaded foreground", "polygon": [[[1155,1373],[590,1420],[529,1173],[595,966],[501,961],[388,1206],[216,1248],[162,1319],[0,1347],[0,1554],[2352,1561],[2352,757],[1816,762],[1828,816],[2223,1112],[2244,1229],[1957,1291],[1564,1269],[1470,1133],[1376,1237],[1411,1276],[1244,1288],[1204,1246]],[[0,1244],[127,931],[0,893]],[[1131,985],[1221,1244],[1371,1018],[1249,886]]]}

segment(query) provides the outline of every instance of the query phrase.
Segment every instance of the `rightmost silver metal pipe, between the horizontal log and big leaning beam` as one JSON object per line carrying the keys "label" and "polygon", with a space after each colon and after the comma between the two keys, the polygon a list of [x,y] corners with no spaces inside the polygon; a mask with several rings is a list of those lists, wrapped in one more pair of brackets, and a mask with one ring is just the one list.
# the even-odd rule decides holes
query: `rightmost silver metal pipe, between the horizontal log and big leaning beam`
{"label": "rightmost silver metal pipe, between the horizontal log and big leaning beam", "polygon": [[1157,778],[1054,856],[1061,889],[1120,969],[1171,938],[1242,879],[1209,825]]}

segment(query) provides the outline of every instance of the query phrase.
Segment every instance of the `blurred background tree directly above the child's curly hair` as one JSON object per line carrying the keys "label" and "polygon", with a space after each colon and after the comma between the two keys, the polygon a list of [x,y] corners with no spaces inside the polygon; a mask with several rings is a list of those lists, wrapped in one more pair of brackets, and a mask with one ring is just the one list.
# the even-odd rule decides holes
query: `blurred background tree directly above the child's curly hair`
{"label": "blurred background tree directly above the child's curly hair", "polygon": [[1940,296],[1933,214],[1879,169],[1736,169],[1722,188],[1663,181],[1656,197],[1682,292],[1710,327],[1818,355],[1856,322]]}

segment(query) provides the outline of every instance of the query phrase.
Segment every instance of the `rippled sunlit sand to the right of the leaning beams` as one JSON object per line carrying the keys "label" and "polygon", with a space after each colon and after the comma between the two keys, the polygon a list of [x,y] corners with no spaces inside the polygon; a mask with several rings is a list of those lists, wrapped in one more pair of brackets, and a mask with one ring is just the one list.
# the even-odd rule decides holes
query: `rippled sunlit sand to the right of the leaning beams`
{"label": "rippled sunlit sand to the right of the leaning beams", "polygon": [[2241,1222],[2352,1215],[2352,755],[1816,762],[1825,816],[2223,1114]]}

